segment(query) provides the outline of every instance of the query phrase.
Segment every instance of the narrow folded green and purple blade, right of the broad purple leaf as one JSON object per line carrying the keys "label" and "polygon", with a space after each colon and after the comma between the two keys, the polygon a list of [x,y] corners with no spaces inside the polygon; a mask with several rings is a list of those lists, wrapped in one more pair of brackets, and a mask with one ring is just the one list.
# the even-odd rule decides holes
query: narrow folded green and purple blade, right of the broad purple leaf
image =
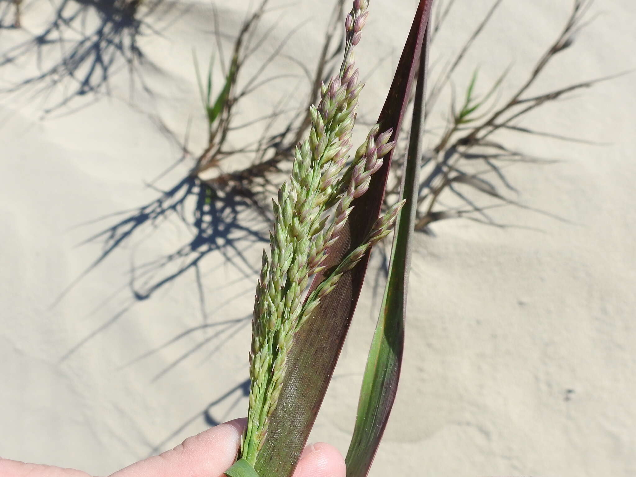
{"label": "narrow folded green and purple blade, right of the broad purple leaf", "polygon": [[404,319],[411,266],[411,238],[415,226],[420,183],[428,46],[429,30],[427,29],[420,55],[411,137],[401,187],[401,200],[406,202],[397,218],[389,276],[364,370],[356,427],[349,445],[349,452],[347,452],[347,477],[365,477],[369,473],[397,392],[404,351]]}

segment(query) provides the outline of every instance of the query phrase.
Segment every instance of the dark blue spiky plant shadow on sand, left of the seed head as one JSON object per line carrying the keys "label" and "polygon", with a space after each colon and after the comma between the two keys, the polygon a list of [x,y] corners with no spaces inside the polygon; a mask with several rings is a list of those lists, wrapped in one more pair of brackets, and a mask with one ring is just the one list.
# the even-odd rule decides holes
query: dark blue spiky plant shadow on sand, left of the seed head
{"label": "dark blue spiky plant shadow on sand, left of the seed head", "polygon": [[[60,361],[66,361],[99,333],[113,326],[136,303],[148,300],[161,289],[167,288],[170,284],[174,284],[177,279],[184,277],[186,273],[192,273],[195,277],[203,324],[184,331],[176,338],[164,343],[160,349],[180,340],[186,335],[190,335],[193,331],[216,326],[222,326],[222,328],[210,336],[205,336],[201,343],[195,345],[193,349],[167,366],[153,380],[165,375],[193,352],[202,349],[207,343],[214,340],[223,342],[228,336],[238,333],[240,329],[249,324],[249,317],[209,322],[210,316],[207,313],[205,300],[202,263],[204,259],[211,258],[211,254],[216,252],[222,258],[219,266],[228,264],[233,266],[239,274],[240,280],[251,279],[258,274],[258,270],[245,257],[244,252],[253,247],[254,244],[261,242],[265,244],[268,241],[266,235],[268,223],[262,216],[259,216],[259,220],[256,220],[256,212],[251,199],[240,191],[212,189],[200,179],[191,176],[183,177],[167,190],[151,187],[158,192],[158,197],[155,200],[131,211],[118,212],[117,214],[97,219],[97,221],[103,221],[118,217],[113,225],[107,226],[104,230],[81,242],[80,245],[99,243],[102,250],[93,263],[66,287],[54,305],[59,303],[88,273],[109,258],[111,254],[122,248],[131,250],[127,283],[114,291],[110,297],[106,298],[104,303],[97,305],[94,312],[97,313],[98,310],[103,309],[107,301],[113,300],[115,296],[122,292],[127,295],[127,298],[120,310],[84,336],[71,349],[67,350]],[[262,225],[263,230],[258,229],[259,224]],[[162,226],[173,228],[174,226],[179,226],[181,230],[185,228],[189,232],[188,237],[186,240],[180,240],[180,244],[168,254],[161,254],[158,258],[142,259],[141,263],[135,263],[135,252],[137,249],[141,249],[144,240],[151,239]],[[179,233],[179,236],[181,235],[183,234]],[[205,272],[211,272],[209,266],[205,269]],[[226,282],[221,284],[219,289],[233,284],[235,283]],[[247,293],[247,290],[242,291],[240,294],[244,293]],[[228,298],[225,304],[216,303],[215,312],[230,303],[233,298]],[[224,334],[228,336],[222,336]],[[223,340],[221,340],[221,337],[223,337]],[[154,352],[156,350],[147,352],[129,364],[133,364]],[[211,354],[214,354],[214,351]]]}

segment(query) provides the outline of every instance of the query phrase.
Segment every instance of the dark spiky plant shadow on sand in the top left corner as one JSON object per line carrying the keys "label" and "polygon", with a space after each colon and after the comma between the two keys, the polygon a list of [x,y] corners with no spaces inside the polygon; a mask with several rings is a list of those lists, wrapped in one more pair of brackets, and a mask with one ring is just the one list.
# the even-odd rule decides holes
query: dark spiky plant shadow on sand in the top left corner
{"label": "dark spiky plant shadow on sand in the top left corner", "polygon": [[[12,23],[9,2],[4,3],[0,8],[0,27],[15,28],[20,24],[19,17]],[[0,53],[0,67],[10,64],[22,67],[24,60],[33,56],[38,70],[27,71],[16,84],[0,92],[31,91],[34,97],[44,97],[45,105],[48,103],[44,113],[49,114],[77,97],[86,97],[92,102],[99,95],[109,95],[111,77],[126,69],[131,95],[137,82],[151,93],[139,70],[148,59],[139,48],[138,39],[142,35],[160,34],[146,19],[155,14],[162,3],[163,0],[50,1],[52,12],[44,27],[33,32],[31,38],[10,45]],[[25,3],[21,15],[27,17],[29,7],[35,4]],[[169,11],[170,8],[164,9],[163,16]],[[153,18],[155,25],[163,22],[160,29],[171,21],[161,15]]]}

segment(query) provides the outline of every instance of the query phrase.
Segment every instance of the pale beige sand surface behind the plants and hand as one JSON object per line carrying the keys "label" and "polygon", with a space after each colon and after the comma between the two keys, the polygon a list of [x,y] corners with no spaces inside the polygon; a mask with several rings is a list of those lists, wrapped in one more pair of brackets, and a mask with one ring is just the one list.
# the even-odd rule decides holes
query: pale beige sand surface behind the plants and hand
{"label": "pale beige sand surface behind the plants and hand", "polygon": [[[104,475],[245,415],[267,225],[241,198],[198,207],[205,191],[187,176],[205,146],[191,52],[207,59],[215,30],[229,48],[252,3],[218,2],[218,30],[207,0],[148,0],[138,27],[93,2],[24,0],[12,29],[0,4],[3,457]],[[245,98],[239,123],[304,104],[303,67],[312,71],[331,3],[272,0],[245,78],[266,63],[261,77],[273,79]],[[371,3],[357,52],[365,121],[415,4]],[[491,5],[456,1],[434,68]],[[457,90],[476,67],[488,85],[511,66],[504,89],[515,88],[570,7],[504,0]],[[636,66],[633,0],[599,1],[590,18],[534,92]],[[454,219],[415,238],[404,373],[372,476],[636,475],[633,81],[581,90],[522,123],[600,144],[502,135],[560,160],[506,169],[518,190],[507,197],[527,208],[494,218],[514,226]],[[431,134],[447,114],[436,109]],[[233,146],[258,127],[233,133]],[[342,452],[377,314],[374,263],[311,437]]]}

